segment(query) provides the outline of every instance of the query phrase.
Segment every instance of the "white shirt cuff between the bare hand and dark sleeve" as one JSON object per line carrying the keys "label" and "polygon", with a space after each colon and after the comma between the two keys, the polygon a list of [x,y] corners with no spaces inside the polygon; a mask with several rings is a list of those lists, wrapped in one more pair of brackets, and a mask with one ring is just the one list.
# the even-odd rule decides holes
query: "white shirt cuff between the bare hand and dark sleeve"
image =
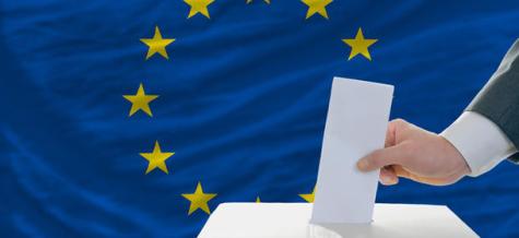
{"label": "white shirt cuff between the bare hand and dark sleeve", "polygon": [[517,152],[494,122],[474,111],[464,111],[440,135],[463,155],[471,169],[471,177],[491,170]]}

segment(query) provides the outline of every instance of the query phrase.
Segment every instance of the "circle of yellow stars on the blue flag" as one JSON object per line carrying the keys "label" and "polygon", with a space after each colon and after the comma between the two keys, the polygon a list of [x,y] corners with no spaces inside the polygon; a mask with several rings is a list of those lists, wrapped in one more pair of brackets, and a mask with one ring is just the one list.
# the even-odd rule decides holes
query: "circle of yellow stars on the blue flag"
{"label": "circle of yellow stars on the blue flag", "polygon": [[[256,0],[263,1],[267,4],[271,4],[271,0]],[[215,0],[184,0],[184,2],[189,7],[189,12],[187,19],[191,19],[196,15],[205,16],[208,20],[211,19],[210,15],[210,5],[215,2]],[[245,3],[250,4],[253,0],[245,0]],[[308,20],[315,15],[320,15],[321,17],[329,20],[327,7],[333,2],[333,0],[300,0],[307,7],[305,19]],[[148,52],[144,57],[144,61],[148,61],[154,56],[162,56],[164,59],[169,60],[167,53],[167,47],[172,45],[176,39],[163,37],[161,28],[155,26],[155,31],[151,38],[141,38],[140,41],[148,47]],[[357,29],[356,35],[353,38],[344,38],[342,41],[351,48],[350,56],[347,60],[352,60],[356,56],[361,55],[367,60],[371,61],[371,55],[369,53],[369,47],[373,46],[378,39],[365,38],[362,27]],[[141,83],[137,90],[135,94],[122,95],[122,97],[131,103],[131,108],[128,117],[132,117],[139,111],[153,117],[152,109],[150,104],[158,98],[158,95],[146,94],[143,83]],[[148,175],[155,169],[162,170],[164,174],[169,174],[169,170],[166,165],[166,160],[174,156],[175,152],[163,152],[158,141],[155,141],[152,152],[140,153],[140,156],[148,162],[148,168],[144,174]],[[314,202],[316,192],[316,187],[314,187],[310,193],[298,194],[299,198],[308,203]],[[181,197],[189,201],[188,215],[191,215],[198,210],[210,214],[211,210],[209,202],[214,199],[216,193],[205,193],[202,188],[201,181],[198,181],[196,189],[192,193],[182,193]],[[256,202],[260,203],[261,199],[258,195]]]}

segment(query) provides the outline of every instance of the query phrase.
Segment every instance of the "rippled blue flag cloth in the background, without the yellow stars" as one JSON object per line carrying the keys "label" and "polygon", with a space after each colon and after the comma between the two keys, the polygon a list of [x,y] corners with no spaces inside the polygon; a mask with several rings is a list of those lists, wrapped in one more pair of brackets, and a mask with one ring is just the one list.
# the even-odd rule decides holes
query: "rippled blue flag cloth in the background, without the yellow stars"
{"label": "rippled blue flag cloth in the background, without the yellow stars", "polygon": [[[193,237],[200,181],[232,201],[304,202],[334,75],[396,85],[391,118],[440,132],[519,36],[519,2],[345,1],[305,20],[300,1],[216,0],[211,19],[174,1],[0,5],[1,237]],[[155,26],[169,60],[145,60]],[[347,60],[358,27],[373,61]],[[143,83],[153,117],[128,117]],[[145,175],[155,141],[175,155]],[[446,204],[483,237],[519,237],[519,168],[448,187],[402,180],[378,202]]]}

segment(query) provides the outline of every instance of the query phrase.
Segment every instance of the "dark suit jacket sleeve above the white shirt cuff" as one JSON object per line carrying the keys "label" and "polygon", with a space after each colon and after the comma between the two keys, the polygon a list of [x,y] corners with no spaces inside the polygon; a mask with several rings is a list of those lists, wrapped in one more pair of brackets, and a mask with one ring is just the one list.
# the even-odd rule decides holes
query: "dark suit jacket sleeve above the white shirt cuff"
{"label": "dark suit jacket sleeve above the white shirt cuff", "polygon": [[[467,110],[492,120],[519,148],[519,39]],[[519,153],[512,155],[510,160],[519,163]]]}

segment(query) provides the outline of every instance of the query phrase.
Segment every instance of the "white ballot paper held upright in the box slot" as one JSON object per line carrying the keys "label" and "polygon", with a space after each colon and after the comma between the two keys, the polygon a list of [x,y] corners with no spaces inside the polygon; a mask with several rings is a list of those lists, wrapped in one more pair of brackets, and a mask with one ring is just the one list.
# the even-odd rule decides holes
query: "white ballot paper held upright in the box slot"
{"label": "white ballot paper held upright in the box slot", "polygon": [[384,147],[393,86],[334,78],[311,223],[370,223],[379,171],[356,162]]}

